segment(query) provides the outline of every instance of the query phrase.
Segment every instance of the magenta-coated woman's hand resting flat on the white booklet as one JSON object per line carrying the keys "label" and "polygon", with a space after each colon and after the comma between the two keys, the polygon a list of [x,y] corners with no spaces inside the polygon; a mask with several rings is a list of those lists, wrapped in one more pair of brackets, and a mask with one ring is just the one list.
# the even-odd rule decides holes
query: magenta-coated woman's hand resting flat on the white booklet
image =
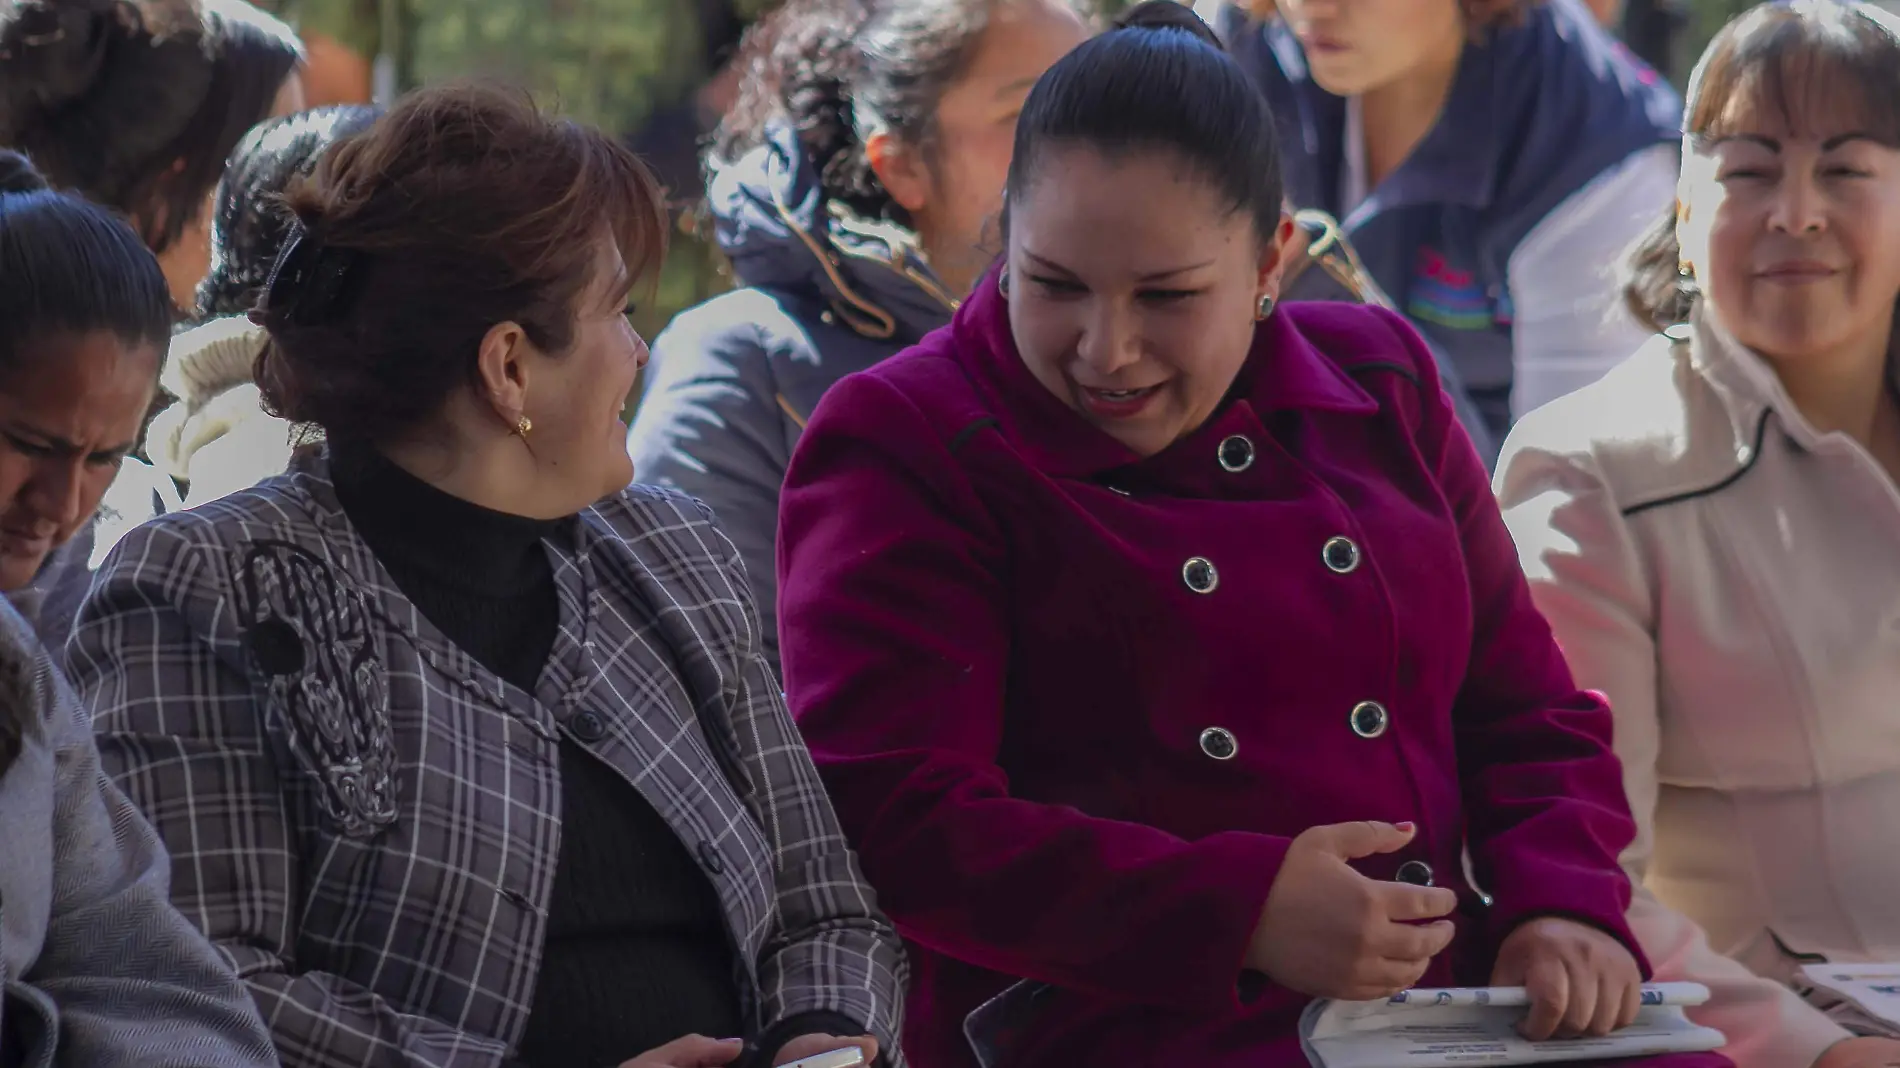
{"label": "magenta-coated woman's hand resting flat on the white booklet", "polygon": [[1492,967],[1493,986],[1524,986],[1530,1017],[1524,1038],[1604,1036],[1636,1022],[1644,977],[1636,958],[1607,933],[1545,916],[1510,931]]}

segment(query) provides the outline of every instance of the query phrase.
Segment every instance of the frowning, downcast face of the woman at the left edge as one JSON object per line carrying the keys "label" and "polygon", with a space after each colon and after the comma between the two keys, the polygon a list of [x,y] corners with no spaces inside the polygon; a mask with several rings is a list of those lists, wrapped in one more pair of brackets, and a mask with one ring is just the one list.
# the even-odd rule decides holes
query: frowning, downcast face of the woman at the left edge
{"label": "frowning, downcast face of the woman at the left edge", "polygon": [[0,384],[0,593],[99,509],[158,384],[158,350],[110,331],[25,346]]}

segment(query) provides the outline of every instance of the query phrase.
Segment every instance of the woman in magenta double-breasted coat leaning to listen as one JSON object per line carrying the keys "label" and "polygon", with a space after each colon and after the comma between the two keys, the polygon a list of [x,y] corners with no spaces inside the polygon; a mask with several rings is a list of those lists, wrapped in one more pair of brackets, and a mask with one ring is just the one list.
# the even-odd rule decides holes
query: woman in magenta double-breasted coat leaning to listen
{"label": "woman in magenta double-breasted coat leaning to listen", "polygon": [[906,1051],[977,1064],[1005,988],[986,1060],[1034,1068],[1290,1068],[1311,998],[1416,984],[1626,1022],[1609,713],[1412,329],[1275,310],[1246,76],[1132,23],[1030,93],[1001,270],[785,486],[787,692],[916,948]]}

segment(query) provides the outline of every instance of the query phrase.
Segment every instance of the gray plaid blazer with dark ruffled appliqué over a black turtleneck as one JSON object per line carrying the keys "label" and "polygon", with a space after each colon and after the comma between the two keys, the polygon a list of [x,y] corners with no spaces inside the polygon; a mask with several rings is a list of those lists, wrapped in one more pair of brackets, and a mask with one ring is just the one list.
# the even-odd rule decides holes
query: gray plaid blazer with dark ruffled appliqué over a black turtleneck
{"label": "gray plaid blazer with dark ruffled appliqu\u00e9 over a black turtleneck", "polygon": [[633,486],[547,549],[560,633],[534,694],[416,612],[321,458],[141,526],[95,576],[74,686],[171,848],[173,901],[251,984],[283,1062],[509,1055],[545,939],[562,732],[701,859],[754,1026],[828,1009],[901,1060],[902,944],[711,511]]}

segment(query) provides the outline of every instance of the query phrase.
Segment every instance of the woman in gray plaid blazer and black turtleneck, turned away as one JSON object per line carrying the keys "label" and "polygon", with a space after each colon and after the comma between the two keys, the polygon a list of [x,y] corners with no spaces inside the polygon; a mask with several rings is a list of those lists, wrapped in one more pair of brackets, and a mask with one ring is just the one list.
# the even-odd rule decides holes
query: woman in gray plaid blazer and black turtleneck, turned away
{"label": "woman in gray plaid blazer and black turtleneck, turned away", "polygon": [[739,557],[621,488],[652,179],[464,87],[289,205],[258,386],[325,447],[129,534],[68,648],[283,1062],[901,1064],[902,948]]}

